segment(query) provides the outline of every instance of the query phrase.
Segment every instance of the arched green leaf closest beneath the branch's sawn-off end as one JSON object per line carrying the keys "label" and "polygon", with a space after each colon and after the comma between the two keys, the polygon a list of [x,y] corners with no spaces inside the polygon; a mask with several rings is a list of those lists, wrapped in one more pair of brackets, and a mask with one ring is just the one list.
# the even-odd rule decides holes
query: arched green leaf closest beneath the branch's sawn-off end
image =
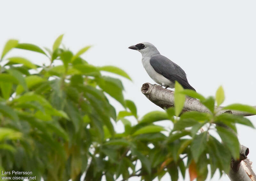
{"label": "arched green leaf closest beneath the branch's sawn-off end", "polygon": [[168,119],[168,115],[166,112],[163,111],[151,111],[147,114],[145,114],[141,120],[140,123],[153,123],[156,121],[166,120]]}

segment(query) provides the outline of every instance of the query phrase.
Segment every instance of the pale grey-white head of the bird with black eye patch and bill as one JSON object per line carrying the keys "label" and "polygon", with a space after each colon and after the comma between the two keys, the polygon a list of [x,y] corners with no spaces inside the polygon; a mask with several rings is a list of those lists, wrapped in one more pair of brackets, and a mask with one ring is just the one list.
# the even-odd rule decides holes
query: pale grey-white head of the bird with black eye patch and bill
{"label": "pale grey-white head of the bird with black eye patch and bill", "polygon": [[142,54],[142,57],[152,57],[153,55],[160,54],[156,47],[149,42],[142,42],[130,46],[129,49],[138,50]]}

